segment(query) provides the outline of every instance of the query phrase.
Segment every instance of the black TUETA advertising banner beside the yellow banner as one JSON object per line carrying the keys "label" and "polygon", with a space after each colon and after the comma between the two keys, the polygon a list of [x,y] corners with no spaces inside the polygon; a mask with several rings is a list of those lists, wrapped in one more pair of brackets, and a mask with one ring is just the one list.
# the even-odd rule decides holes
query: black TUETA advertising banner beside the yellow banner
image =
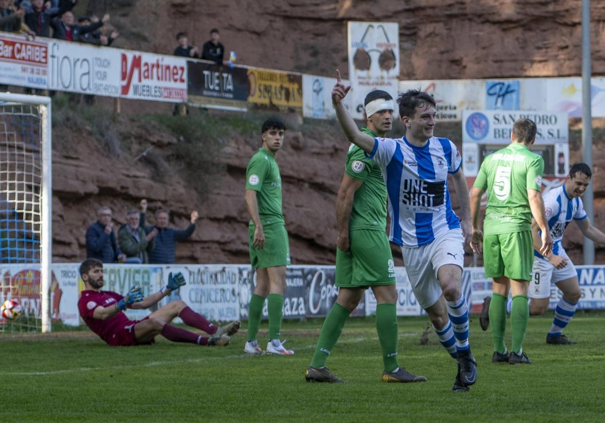
{"label": "black TUETA advertising banner beside the yellow banner", "polygon": [[246,111],[246,69],[189,60],[187,77],[189,103],[208,109]]}

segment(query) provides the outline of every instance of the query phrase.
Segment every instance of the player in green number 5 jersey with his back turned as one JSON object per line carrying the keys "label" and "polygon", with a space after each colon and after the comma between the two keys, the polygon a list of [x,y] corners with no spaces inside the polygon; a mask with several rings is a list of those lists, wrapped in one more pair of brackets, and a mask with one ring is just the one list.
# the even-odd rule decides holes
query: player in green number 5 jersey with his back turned
{"label": "player in green number 5 jersey with his back turned", "polygon": [[[494,363],[531,363],[523,352],[523,338],[529,320],[528,285],[532,277],[534,251],[532,215],[542,230],[540,253],[549,254],[552,248],[544,203],[540,196],[544,161],[529,150],[535,141],[536,132],[533,121],[515,121],[511,133],[512,143],[483,160],[471,190],[471,247],[476,253],[483,250],[485,276],[494,281],[494,293],[489,303]],[[479,212],[485,190],[488,190],[488,201],[482,232],[479,230]],[[510,355],[504,343],[509,290],[512,293]]]}

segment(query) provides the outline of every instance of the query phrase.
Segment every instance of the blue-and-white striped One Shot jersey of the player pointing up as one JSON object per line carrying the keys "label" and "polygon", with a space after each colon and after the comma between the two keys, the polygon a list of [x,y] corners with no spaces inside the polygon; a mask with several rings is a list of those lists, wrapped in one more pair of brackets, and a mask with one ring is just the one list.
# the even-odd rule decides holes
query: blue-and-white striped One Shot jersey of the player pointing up
{"label": "blue-and-white striped One Shot jersey of the player pointing up", "polygon": [[374,138],[367,157],[381,166],[387,185],[390,241],[418,247],[460,228],[448,191],[448,173],[458,172],[462,163],[454,143],[432,137],[424,147],[416,147],[405,137]]}

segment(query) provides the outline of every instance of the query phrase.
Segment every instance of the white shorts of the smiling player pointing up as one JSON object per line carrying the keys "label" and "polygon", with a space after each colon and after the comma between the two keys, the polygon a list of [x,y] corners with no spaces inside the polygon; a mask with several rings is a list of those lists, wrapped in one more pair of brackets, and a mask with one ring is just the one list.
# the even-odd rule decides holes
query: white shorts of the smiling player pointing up
{"label": "white shorts of the smiling player pointing up", "polygon": [[460,229],[448,230],[431,244],[401,247],[405,271],[416,300],[423,309],[432,306],[442,294],[437,271],[443,265],[464,266],[464,238]]}

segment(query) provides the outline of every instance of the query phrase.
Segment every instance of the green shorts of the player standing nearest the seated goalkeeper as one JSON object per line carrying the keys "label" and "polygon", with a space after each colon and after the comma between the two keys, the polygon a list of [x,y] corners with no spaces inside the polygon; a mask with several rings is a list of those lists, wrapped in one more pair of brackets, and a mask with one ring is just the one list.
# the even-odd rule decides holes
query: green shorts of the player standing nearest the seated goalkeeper
{"label": "green shorts of the player standing nearest the seated goalkeeper", "polygon": [[290,245],[288,233],[283,224],[263,227],[265,244],[263,248],[252,247],[256,227],[248,227],[248,246],[250,247],[250,263],[255,269],[287,266],[290,264]]}

